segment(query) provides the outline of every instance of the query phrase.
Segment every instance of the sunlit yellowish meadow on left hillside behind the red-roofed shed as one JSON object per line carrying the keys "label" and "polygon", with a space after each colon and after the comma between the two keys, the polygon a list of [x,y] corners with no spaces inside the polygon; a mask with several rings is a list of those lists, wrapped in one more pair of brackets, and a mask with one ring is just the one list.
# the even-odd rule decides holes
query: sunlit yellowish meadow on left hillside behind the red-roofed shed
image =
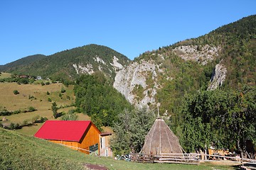
{"label": "sunlit yellowish meadow on left hillside behind the red-roofed shed", "polygon": [[[1,74],[3,76],[3,73]],[[60,93],[61,89],[65,89],[65,93]],[[15,95],[14,91],[17,90],[19,94]],[[49,94],[47,94],[47,91]],[[58,112],[68,113],[70,109],[74,107],[70,106],[75,103],[75,96],[73,95],[73,86],[65,87],[63,84],[49,84],[42,86],[37,84],[17,84],[17,83],[0,83],[0,108],[5,108],[7,111],[24,111],[29,107],[36,108],[37,111],[18,113],[13,115],[0,116],[0,120],[3,117],[7,121],[1,121],[1,123],[19,123],[24,121],[30,122],[36,116],[46,117],[48,120],[54,120],[53,112],[51,111],[52,102],[56,102],[57,106],[63,106]],[[60,97],[61,94],[61,97]],[[51,102],[48,101],[51,99]],[[58,118],[60,119],[60,118]],[[78,113],[78,120],[90,120],[87,115]],[[43,123],[36,123],[30,127],[23,127],[21,130],[17,130],[26,135],[34,135]]]}

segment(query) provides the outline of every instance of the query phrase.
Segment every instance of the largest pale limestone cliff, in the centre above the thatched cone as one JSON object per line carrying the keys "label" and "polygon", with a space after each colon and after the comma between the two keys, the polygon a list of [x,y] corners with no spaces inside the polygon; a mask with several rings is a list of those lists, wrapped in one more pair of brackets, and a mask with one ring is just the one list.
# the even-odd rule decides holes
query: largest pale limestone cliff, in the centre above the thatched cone
{"label": "largest pale limestone cliff, in the centre above the thatched cone", "polygon": [[133,62],[117,72],[113,86],[130,103],[146,106],[155,103],[154,96],[159,86],[156,74],[159,71],[159,65],[154,64],[153,60]]}

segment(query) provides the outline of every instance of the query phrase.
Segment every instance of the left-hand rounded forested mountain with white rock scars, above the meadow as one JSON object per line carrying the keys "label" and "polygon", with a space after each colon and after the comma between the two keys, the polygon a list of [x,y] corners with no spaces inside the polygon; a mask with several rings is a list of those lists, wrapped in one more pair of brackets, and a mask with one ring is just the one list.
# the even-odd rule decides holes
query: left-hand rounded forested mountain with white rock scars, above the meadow
{"label": "left-hand rounded forested mountain with white rock scars, above the meadow", "polygon": [[29,61],[31,58],[33,57],[21,59],[26,64],[18,64],[16,67],[7,64],[1,70],[14,74],[41,76],[53,80],[75,79],[79,74],[92,74],[100,71],[110,79],[114,79],[115,72],[130,62],[127,57],[119,52],[109,47],[94,44],[57,52],[43,57],[41,60],[33,59],[34,61]]}

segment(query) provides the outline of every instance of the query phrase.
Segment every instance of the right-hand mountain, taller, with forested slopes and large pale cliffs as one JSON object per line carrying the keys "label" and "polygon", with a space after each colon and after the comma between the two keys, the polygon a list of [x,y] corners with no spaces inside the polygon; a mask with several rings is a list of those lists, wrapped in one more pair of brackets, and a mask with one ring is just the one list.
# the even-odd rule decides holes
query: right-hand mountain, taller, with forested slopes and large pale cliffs
{"label": "right-hand mountain, taller, with forested slopes and large pale cliffs", "polygon": [[198,38],[144,52],[124,67],[114,88],[130,103],[166,115],[176,113],[181,98],[199,90],[255,86],[256,15],[222,26]]}

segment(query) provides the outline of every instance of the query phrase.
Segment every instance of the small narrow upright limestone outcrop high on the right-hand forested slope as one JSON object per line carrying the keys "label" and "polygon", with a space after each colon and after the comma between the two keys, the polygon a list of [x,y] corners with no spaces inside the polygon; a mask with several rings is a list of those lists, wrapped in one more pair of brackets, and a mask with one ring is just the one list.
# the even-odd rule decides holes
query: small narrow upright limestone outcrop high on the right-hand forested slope
{"label": "small narrow upright limestone outcrop high on the right-hand forested slope", "polygon": [[225,77],[227,74],[227,69],[223,64],[216,64],[213,71],[213,76],[210,79],[210,84],[208,90],[217,89],[219,86],[223,85]]}

